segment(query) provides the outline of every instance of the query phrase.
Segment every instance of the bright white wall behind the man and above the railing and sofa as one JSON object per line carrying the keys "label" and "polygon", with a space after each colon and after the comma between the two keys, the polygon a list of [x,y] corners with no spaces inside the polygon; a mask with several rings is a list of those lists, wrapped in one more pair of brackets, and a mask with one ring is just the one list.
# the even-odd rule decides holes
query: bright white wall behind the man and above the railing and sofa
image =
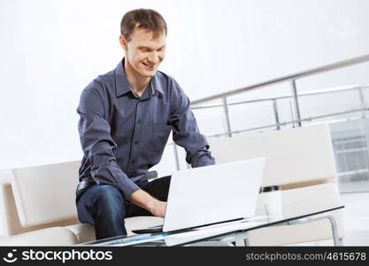
{"label": "bright white wall behind the man and above the railing and sofa", "polygon": [[[81,90],[118,64],[119,22],[137,7],[164,15],[161,70],[193,100],[369,54],[365,0],[0,0],[0,169],[81,159]],[[361,82],[366,73],[299,84]],[[289,87],[249,98],[282,92]]]}

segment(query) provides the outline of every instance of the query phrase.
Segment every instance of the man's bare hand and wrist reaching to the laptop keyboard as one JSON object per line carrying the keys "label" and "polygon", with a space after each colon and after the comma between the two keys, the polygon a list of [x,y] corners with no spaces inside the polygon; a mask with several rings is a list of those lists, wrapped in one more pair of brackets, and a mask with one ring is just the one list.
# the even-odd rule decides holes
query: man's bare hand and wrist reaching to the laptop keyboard
{"label": "man's bare hand and wrist reaching to the laptop keyboard", "polygon": [[135,191],[128,200],[139,207],[147,209],[154,216],[162,218],[165,216],[166,202],[151,197],[147,192],[142,190]]}

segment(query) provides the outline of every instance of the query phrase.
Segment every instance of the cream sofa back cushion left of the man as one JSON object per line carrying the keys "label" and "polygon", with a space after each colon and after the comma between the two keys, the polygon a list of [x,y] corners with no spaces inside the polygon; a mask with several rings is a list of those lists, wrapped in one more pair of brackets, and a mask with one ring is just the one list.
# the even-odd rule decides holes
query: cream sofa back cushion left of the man
{"label": "cream sofa back cushion left of the man", "polygon": [[80,161],[13,169],[12,191],[23,227],[77,217]]}

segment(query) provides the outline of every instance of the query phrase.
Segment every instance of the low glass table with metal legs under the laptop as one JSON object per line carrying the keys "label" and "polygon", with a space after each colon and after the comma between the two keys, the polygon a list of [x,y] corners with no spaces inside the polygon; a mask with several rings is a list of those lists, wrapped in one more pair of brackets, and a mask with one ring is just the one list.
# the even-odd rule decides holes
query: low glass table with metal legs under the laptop
{"label": "low glass table with metal legs under the laptop", "polygon": [[249,246],[249,232],[259,228],[311,223],[327,219],[331,225],[334,246],[342,246],[332,211],[344,206],[324,207],[311,212],[294,210],[282,215],[255,216],[228,223],[217,223],[196,229],[168,233],[142,234],[131,237],[115,237],[81,244],[81,246],[234,246],[242,239]]}

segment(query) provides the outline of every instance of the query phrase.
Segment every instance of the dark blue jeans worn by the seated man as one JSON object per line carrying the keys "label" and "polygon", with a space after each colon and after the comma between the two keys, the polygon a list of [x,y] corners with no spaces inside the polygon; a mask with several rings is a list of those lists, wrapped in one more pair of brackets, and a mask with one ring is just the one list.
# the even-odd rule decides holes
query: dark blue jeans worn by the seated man
{"label": "dark blue jeans worn by the seated man", "polygon": [[[143,191],[152,197],[168,199],[171,176],[138,183]],[[77,200],[78,217],[81,223],[95,225],[96,239],[127,235],[124,218],[132,216],[152,216],[142,207],[127,202],[119,190],[109,184],[93,185]]]}

